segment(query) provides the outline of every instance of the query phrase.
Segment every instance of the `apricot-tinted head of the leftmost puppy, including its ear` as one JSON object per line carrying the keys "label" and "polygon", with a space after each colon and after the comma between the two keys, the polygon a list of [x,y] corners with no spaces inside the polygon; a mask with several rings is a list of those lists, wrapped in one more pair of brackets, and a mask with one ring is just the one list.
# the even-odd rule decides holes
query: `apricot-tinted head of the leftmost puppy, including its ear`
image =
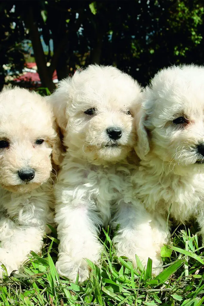
{"label": "apricot-tinted head of the leftmost puppy, including its ear", "polygon": [[52,110],[35,92],[8,88],[0,93],[0,186],[27,192],[50,177],[51,154],[60,152]]}

